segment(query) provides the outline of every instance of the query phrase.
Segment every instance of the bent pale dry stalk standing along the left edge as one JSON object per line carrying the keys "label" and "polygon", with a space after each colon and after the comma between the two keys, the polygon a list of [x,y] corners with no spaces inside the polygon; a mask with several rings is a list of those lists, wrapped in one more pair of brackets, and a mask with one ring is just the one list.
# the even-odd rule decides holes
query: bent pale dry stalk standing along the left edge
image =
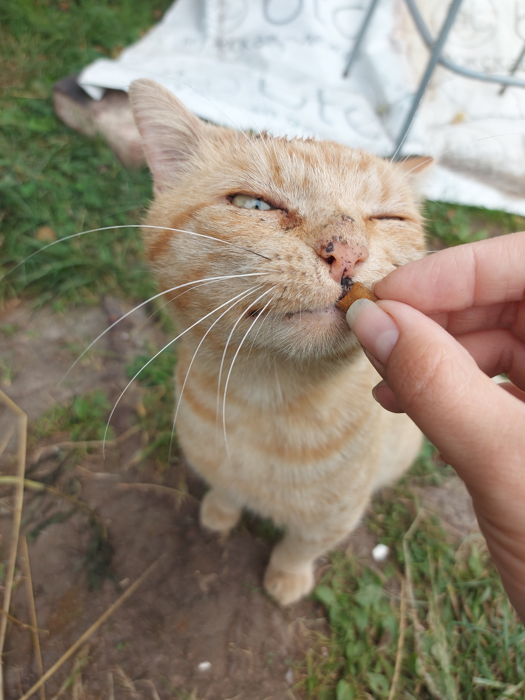
{"label": "bent pale dry stalk standing along the left edge", "polygon": [[27,415],[19,408],[15,402],[10,400],[3,391],[0,391],[0,400],[15,416],[18,422],[18,464],[15,477],[15,505],[13,507],[13,528],[11,530],[11,541],[9,548],[9,559],[6,571],[6,582],[3,591],[2,610],[5,613],[0,620],[0,700],[3,700],[3,644],[6,640],[7,616],[11,602],[11,589],[13,588],[13,578],[15,577],[16,554],[18,552],[18,537],[20,535],[20,521],[22,520],[22,505],[24,501],[24,476],[25,476],[25,455],[27,446]]}

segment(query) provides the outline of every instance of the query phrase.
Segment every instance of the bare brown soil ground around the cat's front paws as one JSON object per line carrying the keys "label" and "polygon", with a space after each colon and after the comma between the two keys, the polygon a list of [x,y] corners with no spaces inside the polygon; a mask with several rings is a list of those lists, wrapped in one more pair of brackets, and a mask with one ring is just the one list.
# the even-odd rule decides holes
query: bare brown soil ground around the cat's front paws
{"label": "bare brown soil ground around the cat's front paws", "polygon": [[[104,388],[110,398],[127,383],[124,367],[147,344],[160,346],[162,330],[138,312],[117,326],[59,384],[64,372],[91,339],[129,307],[106,299],[101,308],[74,309],[66,315],[25,302],[4,309],[1,324],[12,328],[1,337],[3,391],[37,419],[55,402]],[[130,391],[113,420],[116,435],[130,428],[140,389]],[[0,437],[10,418],[0,414]],[[91,638],[82,671],[86,697],[192,697],[209,700],[284,699],[297,696],[294,666],[310,643],[310,630],[328,629],[321,605],[306,600],[288,610],[262,591],[262,574],[271,538],[262,537],[257,521],[246,517],[225,542],[202,531],[198,501],[206,489],[186,467],[183,456],[162,477],[177,488],[186,479],[190,497],[180,507],[159,489],[126,488],[136,482],[160,485],[155,468],[123,469],[140,446],[137,433],[117,449],[94,451],[66,477],[78,484],[77,495],[97,512],[113,549],[111,572],[99,589],[87,585],[86,561],[93,528],[83,512],[46,526],[29,545],[32,583],[41,634],[44,669],[92,624],[134,580],[156,561],[153,573]],[[15,441],[1,458],[2,473],[13,473]],[[28,462],[29,463],[29,462]],[[57,457],[38,463],[29,477],[43,479],[57,468]],[[64,477],[65,478],[65,477]],[[419,491],[421,502],[437,512],[452,534],[477,531],[470,497],[455,478],[444,486]],[[30,507],[28,506],[30,499]],[[29,494],[22,531],[52,510],[54,499]],[[62,509],[64,510],[64,509]],[[12,510],[0,499],[0,532],[8,550]],[[370,559],[374,536],[361,525],[344,547]],[[327,566],[320,561],[318,576]],[[11,614],[29,622],[25,587],[15,576]],[[80,661],[81,659],[79,659]],[[18,698],[37,680],[31,635],[8,624],[4,654],[8,696]],[[73,659],[46,684],[46,696],[58,692],[71,673]],[[134,683],[126,685],[128,680]],[[142,680],[145,679],[145,680]],[[147,681],[153,682],[148,683]],[[154,687],[153,687],[154,686]],[[71,690],[68,690],[68,694]]]}

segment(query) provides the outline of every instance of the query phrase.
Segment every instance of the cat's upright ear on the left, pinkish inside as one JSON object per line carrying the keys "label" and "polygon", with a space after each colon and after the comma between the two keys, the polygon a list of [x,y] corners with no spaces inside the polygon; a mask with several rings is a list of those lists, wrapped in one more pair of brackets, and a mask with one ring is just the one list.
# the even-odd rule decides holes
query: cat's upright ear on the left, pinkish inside
{"label": "cat's upright ear on the left, pinkish inside", "polygon": [[153,188],[160,192],[188,173],[206,127],[155,80],[134,80],[130,85],[130,104],[141,132]]}

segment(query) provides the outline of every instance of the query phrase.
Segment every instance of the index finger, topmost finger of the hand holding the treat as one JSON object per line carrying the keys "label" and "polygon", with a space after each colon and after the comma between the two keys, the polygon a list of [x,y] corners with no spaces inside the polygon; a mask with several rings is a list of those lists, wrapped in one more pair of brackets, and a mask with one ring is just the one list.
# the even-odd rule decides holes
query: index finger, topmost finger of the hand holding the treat
{"label": "index finger, topmost finger of the hand holding the treat", "polygon": [[374,286],[379,299],[423,314],[524,299],[525,232],[447,248],[398,267]]}

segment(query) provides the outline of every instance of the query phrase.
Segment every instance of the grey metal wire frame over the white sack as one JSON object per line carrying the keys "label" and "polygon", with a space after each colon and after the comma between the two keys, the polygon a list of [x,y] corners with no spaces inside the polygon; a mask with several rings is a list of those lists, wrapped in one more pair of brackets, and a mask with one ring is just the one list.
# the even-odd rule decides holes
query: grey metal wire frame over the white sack
{"label": "grey metal wire frame over the white sack", "polygon": [[[416,116],[417,110],[419,109],[421,99],[423,99],[423,94],[425,94],[426,87],[428,86],[428,82],[430,81],[430,78],[432,77],[432,74],[435,70],[435,66],[437,66],[437,64],[441,64],[442,66],[444,66],[444,68],[447,68],[449,71],[457,73],[460,76],[464,76],[465,78],[472,78],[472,80],[482,80],[484,83],[498,83],[502,86],[500,94],[503,94],[503,92],[505,92],[505,88],[509,85],[513,85],[514,87],[525,87],[525,80],[514,78],[514,73],[517,71],[521,60],[525,57],[525,46],[521,50],[521,53],[519,54],[519,57],[517,58],[516,62],[514,62],[514,66],[512,66],[510,75],[507,76],[493,75],[491,73],[482,73],[481,71],[473,71],[470,68],[464,68],[463,66],[458,65],[454,61],[451,61],[450,59],[442,55],[444,44],[447,41],[452,25],[454,25],[454,20],[456,19],[462,1],[463,0],[451,1],[447,17],[445,18],[441,27],[440,34],[437,36],[437,38],[433,38],[432,34],[430,34],[428,27],[426,26],[425,20],[423,20],[423,17],[419,12],[419,8],[416,5],[416,1],[405,0],[409,12],[412,15],[412,19],[414,20],[419,34],[421,35],[421,38],[430,49],[430,58],[428,59],[428,64],[426,66],[425,72],[423,73],[423,77],[421,78],[421,81],[419,83],[419,87],[416,90],[414,97],[412,98],[412,104],[410,105],[410,109],[405,118],[405,123],[403,123],[400,133],[398,134],[398,138],[395,141],[394,157],[398,156],[399,151],[401,150],[401,146],[407,138],[407,134],[410,130],[410,127],[412,126],[414,117]],[[351,54],[346,64],[346,69],[343,73],[343,76],[345,78],[349,76],[351,68],[356,62],[361,45],[363,45],[363,40],[365,38],[366,31],[370,26],[370,22],[372,21],[374,11],[377,8],[378,3],[379,0],[370,0],[370,5],[368,6],[367,11],[365,13],[365,17],[363,18],[363,23],[360,26],[360,29],[356,36],[356,41],[353,45]]]}

